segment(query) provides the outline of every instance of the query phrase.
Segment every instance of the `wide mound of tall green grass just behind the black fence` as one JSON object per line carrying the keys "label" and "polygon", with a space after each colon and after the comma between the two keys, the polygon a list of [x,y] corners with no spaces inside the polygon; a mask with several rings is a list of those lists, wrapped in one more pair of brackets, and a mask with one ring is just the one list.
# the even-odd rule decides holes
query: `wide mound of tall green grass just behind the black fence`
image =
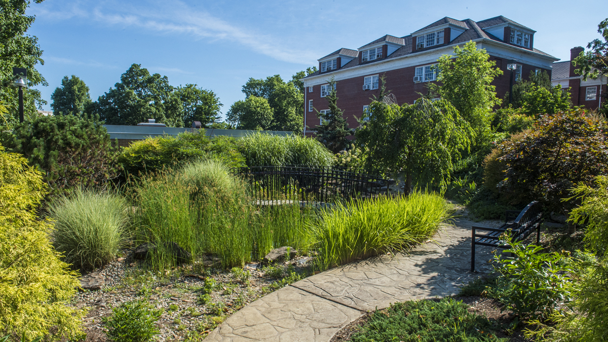
{"label": "wide mound of tall green grass just behind the black fence", "polygon": [[254,133],[238,141],[247,166],[331,166],[333,154],[319,141],[299,135],[272,136]]}

